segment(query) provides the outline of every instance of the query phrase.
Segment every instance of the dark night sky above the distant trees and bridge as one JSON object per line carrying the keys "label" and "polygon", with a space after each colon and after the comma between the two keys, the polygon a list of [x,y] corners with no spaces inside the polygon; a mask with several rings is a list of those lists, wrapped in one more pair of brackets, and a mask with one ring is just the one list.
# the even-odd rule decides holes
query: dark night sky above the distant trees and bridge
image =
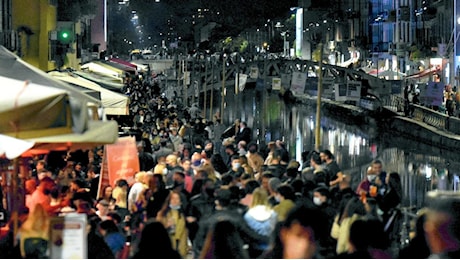
{"label": "dark night sky above the distant trees and bridge", "polygon": [[[197,10],[209,9],[205,22],[217,22],[239,32],[251,26],[263,26],[267,19],[287,19],[290,7],[297,0],[131,0],[130,8],[137,11],[140,24],[147,34],[157,37],[172,30],[182,38],[191,37],[191,21]],[[169,23],[168,23],[169,20]],[[198,21],[198,20],[196,20]],[[232,36],[232,35],[230,35]]]}

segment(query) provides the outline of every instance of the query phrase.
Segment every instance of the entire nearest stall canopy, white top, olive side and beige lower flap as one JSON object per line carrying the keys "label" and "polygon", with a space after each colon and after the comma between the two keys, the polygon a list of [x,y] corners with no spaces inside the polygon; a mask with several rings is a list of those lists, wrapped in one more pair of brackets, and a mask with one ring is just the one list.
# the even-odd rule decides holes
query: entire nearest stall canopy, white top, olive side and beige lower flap
{"label": "entire nearest stall canopy, white top, olive side and beige lower flap", "polygon": [[116,121],[89,120],[85,103],[72,106],[67,91],[4,77],[0,82],[0,134],[33,143],[28,153],[85,149],[118,138]]}

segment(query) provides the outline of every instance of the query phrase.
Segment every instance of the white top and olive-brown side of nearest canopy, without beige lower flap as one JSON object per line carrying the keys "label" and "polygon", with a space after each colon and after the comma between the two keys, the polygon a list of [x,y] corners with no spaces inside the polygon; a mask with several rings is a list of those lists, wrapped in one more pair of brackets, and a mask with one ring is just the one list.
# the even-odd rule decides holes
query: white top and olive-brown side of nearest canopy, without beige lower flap
{"label": "white top and olive-brown side of nearest canopy, without beige lower flap", "polygon": [[73,132],[66,91],[4,77],[0,82],[0,133],[27,139]]}

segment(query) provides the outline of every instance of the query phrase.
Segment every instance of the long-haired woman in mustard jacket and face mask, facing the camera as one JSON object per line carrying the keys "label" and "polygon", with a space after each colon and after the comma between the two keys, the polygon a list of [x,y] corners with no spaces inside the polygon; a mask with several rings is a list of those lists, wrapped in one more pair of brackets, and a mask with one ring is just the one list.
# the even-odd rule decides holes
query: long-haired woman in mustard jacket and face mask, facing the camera
{"label": "long-haired woman in mustard jacket and face mask, facing the camera", "polygon": [[172,191],[163,208],[158,212],[156,220],[161,222],[168,230],[173,249],[179,252],[182,258],[187,258],[188,230],[182,205],[180,193]]}

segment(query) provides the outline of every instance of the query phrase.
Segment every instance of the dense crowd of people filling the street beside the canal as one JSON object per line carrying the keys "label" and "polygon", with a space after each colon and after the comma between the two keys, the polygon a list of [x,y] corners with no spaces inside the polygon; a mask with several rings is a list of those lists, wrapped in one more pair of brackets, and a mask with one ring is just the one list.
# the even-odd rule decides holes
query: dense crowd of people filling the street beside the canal
{"label": "dense crowd of people filling the street beside the canal", "polygon": [[1,258],[47,257],[50,217],[70,212],[88,216],[88,258],[459,256],[458,201],[421,212],[401,246],[401,177],[380,160],[354,187],[327,148],[299,162],[280,140],[259,146],[244,121],[225,128],[219,113],[208,122],[196,104],[168,100],[151,78],[129,79],[124,92],[135,183],[98,192],[100,147],[60,163],[34,158],[17,236],[12,218],[1,229]]}

